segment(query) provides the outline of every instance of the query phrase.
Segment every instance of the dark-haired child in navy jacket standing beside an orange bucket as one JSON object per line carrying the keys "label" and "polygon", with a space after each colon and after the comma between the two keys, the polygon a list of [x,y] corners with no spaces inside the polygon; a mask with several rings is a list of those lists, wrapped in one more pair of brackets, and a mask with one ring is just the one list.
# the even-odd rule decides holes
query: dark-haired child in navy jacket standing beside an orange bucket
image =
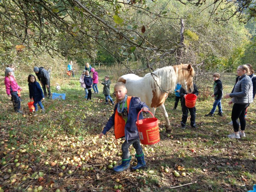
{"label": "dark-haired child in navy jacket standing beside an orange bucket", "polygon": [[29,98],[30,100],[33,98],[35,111],[38,110],[37,104],[42,109],[43,113],[45,112],[44,106],[41,100],[44,100],[44,93],[40,86],[40,84],[36,81],[36,76],[29,75],[28,76],[28,90],[29,90]]}

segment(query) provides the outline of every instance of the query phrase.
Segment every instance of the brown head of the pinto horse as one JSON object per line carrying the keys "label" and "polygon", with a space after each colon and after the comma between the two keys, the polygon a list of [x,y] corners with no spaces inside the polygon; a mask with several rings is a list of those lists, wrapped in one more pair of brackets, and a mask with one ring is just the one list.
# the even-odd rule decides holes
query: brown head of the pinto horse
{"label": "brown head of the pinto horse", "polygon": [[188,92],[191,93],[194,91],[193,86],[193,77],[195,76],[194,68],[191,64],[180,65],[181,67],[181,74],[179,74],[179,82],[181,83],[182,87]]}

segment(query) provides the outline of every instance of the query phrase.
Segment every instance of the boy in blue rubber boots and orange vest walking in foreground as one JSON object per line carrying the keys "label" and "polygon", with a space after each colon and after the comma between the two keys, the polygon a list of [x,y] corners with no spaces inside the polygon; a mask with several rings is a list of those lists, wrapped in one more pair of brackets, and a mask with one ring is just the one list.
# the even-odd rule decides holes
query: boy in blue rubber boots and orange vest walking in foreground
{"label": "boy in blue rubber boots and orange vest walking in foreground", "polygon": [[[146,166],[144,160],[144,153],[140,146],[139,132],[136,127],[136,119],[140,110],[148,112],[148,106],[141,102],[138,97],[127,96],[127,89],[122,82],[116,83],[115,87],[116,105],[113,115],[108,119],[108,123],[100,133],[99,138],[108,132],[113,125],[115,125],[115,137],[119,139],[125,137],[125,141],[122,145],[122,164],[113,168],[114,172],[121,173],[130,168],[130,161],[132,156],[129,152],[129,147],[132,145],[136,154],[135,157],[138,160],[138,164],[132,167],[132,170],[140,169]],[[139,119],[143,119],[142,113],[140,113]]]}

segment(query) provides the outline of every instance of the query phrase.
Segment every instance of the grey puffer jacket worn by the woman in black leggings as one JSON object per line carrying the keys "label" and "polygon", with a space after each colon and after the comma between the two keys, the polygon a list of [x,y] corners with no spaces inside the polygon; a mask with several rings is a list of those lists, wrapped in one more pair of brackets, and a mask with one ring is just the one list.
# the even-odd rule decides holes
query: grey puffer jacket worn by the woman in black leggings
{"label": "grey puffer jacket worn by the woman in black leggings", "polygon": [[252,80],[248,75],[239,77],[238,82],[229,94],[233,103],[248,104],[252,103]]}

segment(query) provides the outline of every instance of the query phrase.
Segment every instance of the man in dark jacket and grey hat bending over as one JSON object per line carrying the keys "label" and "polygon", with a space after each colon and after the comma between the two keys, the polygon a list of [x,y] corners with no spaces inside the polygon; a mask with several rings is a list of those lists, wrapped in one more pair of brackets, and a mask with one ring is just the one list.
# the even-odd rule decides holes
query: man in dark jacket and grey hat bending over
{"label": "man in dark jacket and grey hat bending over", "polygon": [[44,91],[44,97],[47,96],[46,88],[48,91],[48,98],[51,98],[51,89],[50,89],[50,74],[47,70],[45,70],[43,67],[34,67],[34,72],[36,73],[36,76],[38,78],[38,81],[40,81],[43,91]]}

